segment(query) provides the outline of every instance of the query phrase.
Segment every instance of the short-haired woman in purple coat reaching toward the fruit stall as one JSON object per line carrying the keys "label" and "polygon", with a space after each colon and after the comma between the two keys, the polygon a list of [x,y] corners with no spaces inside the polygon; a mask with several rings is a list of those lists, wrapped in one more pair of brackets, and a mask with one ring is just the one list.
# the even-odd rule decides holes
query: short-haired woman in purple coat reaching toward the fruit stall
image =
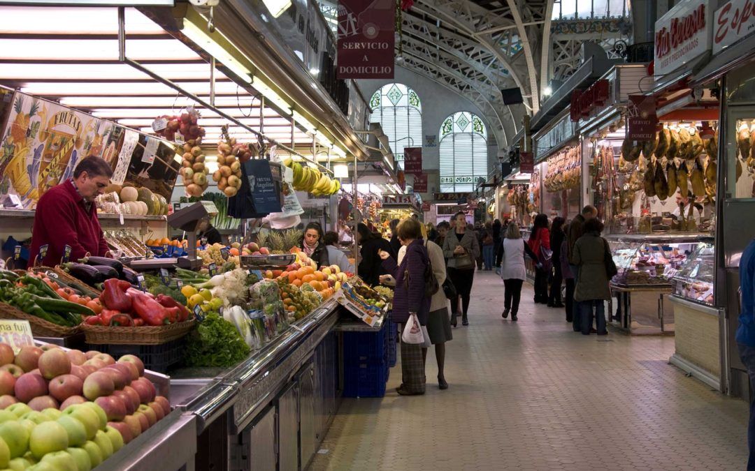
{"label": "short-haired woman in purple coat reaching toward the fruit stall", "polygon": [[[393,313],[391,320],[403,325],[411,314],[417,314],[422,326],[427,325],[430,314],[430,298],[424,295],[425,268],[430,263],[424,242],[420,222],[406,218],[396,228],[399,240],[406,246],[406,255],[401,265],[388,252],[381,250],[383,268],[396,279],[396,291],[393,294]],[[418,396],[425,392],[424,361],[422,344],[401,342],[402,384],[396,392],[402,396]]]}

